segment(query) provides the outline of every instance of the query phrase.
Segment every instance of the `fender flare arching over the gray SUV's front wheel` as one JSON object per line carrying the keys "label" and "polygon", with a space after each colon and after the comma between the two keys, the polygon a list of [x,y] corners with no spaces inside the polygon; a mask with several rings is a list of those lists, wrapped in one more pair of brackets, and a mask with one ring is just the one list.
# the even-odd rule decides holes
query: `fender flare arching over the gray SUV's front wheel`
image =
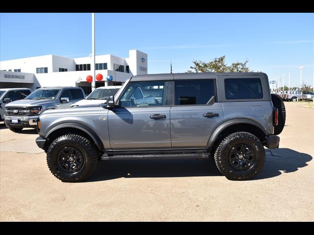
{"label": "fender flare arching over the gray SUV's front wheel", "polygon": [[58,122],[55,123],[54,125],[52,125],[46,133],[44,133],[45,137],[44,139],[49,138],[49,136],[56,130],[62,129],[62,128],[74,128],[74,129],[78,129],[80,131],[85,132],[96,144],[96,146],[100,149],[100,150],[104,150],[104,144],[101,141],[101,139],[98,137],[98,135],[96,134],[96,132],[88,127],[87,125],[85,125],[84,123],[81,122]]}

